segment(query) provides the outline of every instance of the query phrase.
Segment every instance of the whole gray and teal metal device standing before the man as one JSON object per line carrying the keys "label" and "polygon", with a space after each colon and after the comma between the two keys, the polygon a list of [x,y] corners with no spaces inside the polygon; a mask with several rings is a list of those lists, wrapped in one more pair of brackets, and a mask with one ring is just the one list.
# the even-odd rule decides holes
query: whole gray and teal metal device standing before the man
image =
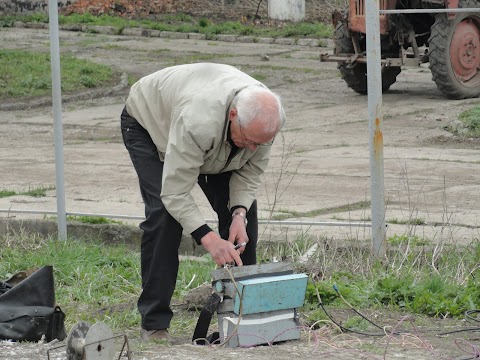
{"label": "whole gray and teal metal device standing before the man", "polygon": [[220,341],[228,347],[271,344],[300,338],[297,308],[303,306],[308,276],[289,263],[214,270],[213,291]]}

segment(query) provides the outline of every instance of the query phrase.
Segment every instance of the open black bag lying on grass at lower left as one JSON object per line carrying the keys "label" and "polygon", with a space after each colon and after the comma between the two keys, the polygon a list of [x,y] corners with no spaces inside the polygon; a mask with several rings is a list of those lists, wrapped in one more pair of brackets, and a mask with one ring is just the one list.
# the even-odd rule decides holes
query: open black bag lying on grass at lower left
{"label": "open black bag lying on grass at lower left", "polygon": [[65,314],[55,306],[52,266],[45,266],[0,295],[0,339],[63,340]]}

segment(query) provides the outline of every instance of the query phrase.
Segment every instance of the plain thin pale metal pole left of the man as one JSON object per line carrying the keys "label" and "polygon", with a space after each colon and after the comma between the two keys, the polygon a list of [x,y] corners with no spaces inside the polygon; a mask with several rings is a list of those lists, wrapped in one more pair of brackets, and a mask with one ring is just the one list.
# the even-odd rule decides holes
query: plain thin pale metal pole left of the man
{"label": "plain thin pale metal pole left of the man", "polygon": [[58,238],[67,239],[67,213],[65,210],[65,181],[63,157],[62,126],[62,90],[60,75],[60,41],[58,35],[57,0],[48,0],[48,17],[50,23],[50,63],[52,68],[52,104],[55,134],[55,177],[57,192]]}

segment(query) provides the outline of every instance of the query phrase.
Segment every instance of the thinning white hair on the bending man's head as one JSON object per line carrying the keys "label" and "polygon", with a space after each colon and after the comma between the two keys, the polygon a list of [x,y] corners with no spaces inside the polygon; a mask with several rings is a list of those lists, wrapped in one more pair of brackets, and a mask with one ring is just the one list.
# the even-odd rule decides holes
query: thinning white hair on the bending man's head
{"label": "thinning white hair on the bending man's head", "polygon": [[235,96],[233,106],[237,109],[238,120],[243,126],[257,118],[266,132],[274,132],[285,122],[280,96],[262,86],[252,85],[241,90]]}

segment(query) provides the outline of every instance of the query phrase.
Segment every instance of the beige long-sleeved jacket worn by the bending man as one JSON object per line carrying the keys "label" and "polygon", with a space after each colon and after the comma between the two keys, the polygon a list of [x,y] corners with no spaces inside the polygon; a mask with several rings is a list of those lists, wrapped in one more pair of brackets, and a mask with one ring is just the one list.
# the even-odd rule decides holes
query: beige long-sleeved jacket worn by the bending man
{"label": "beige long-sleeved jacket worn by the bending man", "polygon": [[126,107],[150,134],[164,161],[161,198],[167,211],[192,233],[205,224],[191,191],[200,174],[232,171],[230,207],[250,208],[270,146],[240,149],[227,163],[228,108],[235,94],[257,80],[221,64],[165,68],[132,86]]}

